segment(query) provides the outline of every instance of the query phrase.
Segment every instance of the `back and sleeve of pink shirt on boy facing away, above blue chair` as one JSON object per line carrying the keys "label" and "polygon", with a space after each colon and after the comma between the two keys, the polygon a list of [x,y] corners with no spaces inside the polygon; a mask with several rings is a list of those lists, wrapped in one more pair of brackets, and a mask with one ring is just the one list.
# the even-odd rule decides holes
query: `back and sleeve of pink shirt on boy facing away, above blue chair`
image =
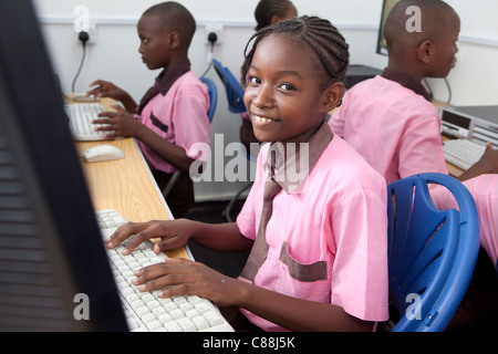
{"label": "back and sleeve of pink shirt on boy facing away, above blue chair", "polygon": [[375,76],[354,85],[329,125],[387,184],[419,171],[447,174],[437,108],[394,81]]}

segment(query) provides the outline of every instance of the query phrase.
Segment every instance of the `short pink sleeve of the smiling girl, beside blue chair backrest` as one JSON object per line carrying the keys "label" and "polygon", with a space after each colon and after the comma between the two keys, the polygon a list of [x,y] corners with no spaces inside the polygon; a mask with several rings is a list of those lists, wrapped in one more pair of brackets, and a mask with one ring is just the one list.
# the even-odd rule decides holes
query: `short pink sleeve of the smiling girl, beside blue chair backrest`
{"label": "short pink sleeve of the smiling girl, beside blue chair backrest", "polygon": [[336,253],[331,303],[365,321],[387,320],[386,201],[363,190],[343,196],[332,208]]}

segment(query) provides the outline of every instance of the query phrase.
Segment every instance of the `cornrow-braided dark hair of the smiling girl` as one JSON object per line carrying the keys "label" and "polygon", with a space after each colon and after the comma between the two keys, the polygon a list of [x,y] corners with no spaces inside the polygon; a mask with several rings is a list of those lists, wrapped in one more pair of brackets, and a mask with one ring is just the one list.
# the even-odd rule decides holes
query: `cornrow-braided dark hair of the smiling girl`
{"label": "cornrow-braided dark hair of the smiling girl", "polygon": [[[255,50],[269,34],[288,34],[295,41],[307,43],[319,60],[318,65],[328,74],[323,86],[344,81],[349,65],[349,45],[339,30],[330,21],[318,17],[303,15],[267,27],[255,33],[245,49],[245,61],[241,67],[241,84],[247,85],[247,72],[252,62]],[[248,52],[249,46],[251,50]]]}

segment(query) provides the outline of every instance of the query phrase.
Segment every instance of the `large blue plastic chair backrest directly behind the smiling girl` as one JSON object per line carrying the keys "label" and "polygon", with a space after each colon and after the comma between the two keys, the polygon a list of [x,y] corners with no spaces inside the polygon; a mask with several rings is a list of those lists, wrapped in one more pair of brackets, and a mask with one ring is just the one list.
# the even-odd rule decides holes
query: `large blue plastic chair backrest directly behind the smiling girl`
{"label": "large blue plastic chair backrest directly behind the smiling girl", "polygon": [[[447,188],[459,211],[435,207],[428,184]],[[400,313],[394,332],[439,332],[469,284],[479,249],[476,205],[465,186],[421,174],[387,186],[390,293]]]}

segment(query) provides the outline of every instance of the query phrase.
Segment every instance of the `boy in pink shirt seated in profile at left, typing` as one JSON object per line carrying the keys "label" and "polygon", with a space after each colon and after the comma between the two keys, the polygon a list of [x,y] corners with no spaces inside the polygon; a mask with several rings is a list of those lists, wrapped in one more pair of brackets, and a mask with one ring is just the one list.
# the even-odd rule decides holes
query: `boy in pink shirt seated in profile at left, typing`
{"label": "boy in pink shirt seated in profile at left, typing", "polygon": [[126,110],[114,106],[117,112],[101,113],[102,118],[94,123],[111,125],[113,133],[108,137],[132,136],[138,140],[160,190],[176,169],[183,171],[166,198],[177,218],[194,204],[190,164],[207,158],[190,153],[190,147],[198,142],[210,143],[209,96],[190,71],[188,59],[196,22],[186,8],[170,1],[146,10],[137,30],[142,60],[149,70],[163,69],[154,86],[138,105],[124,90],[102,80],[91,83],[97,87],[87,94],[123,103]]}

